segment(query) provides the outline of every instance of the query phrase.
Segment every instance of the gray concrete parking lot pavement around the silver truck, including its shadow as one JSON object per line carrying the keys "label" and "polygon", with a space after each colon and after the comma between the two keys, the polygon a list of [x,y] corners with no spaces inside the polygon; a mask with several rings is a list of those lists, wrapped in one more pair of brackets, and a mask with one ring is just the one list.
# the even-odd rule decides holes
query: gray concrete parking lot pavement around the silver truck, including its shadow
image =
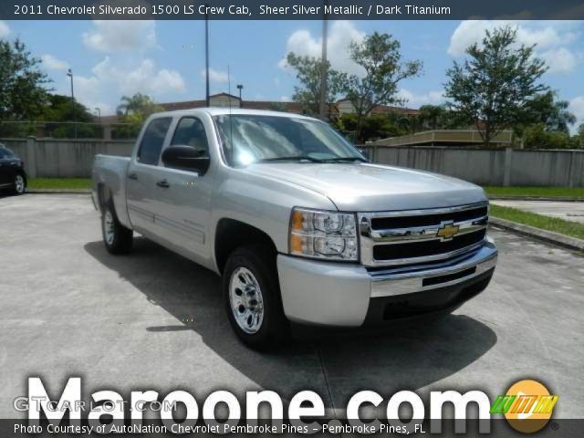
{"label": "gray concrete parking lot pavement around the silver truck, including its shadow", "polygon": [[[483,390],[494,400],[536,379],[559,395],[556,416],[582,418],[584,257],[492,230],[491,286],[454,315],[412,328],[298,330],[281,351],[246,349],[232,333],[220,281],[138,237],[109,255],[86,195],[0,198],[0,417],[40,376],[83,391],[317,391],[344,413],[356,391]],[[52,391],[52,392],[51,392]],[[289,400],[289,399],[287,399]]]}

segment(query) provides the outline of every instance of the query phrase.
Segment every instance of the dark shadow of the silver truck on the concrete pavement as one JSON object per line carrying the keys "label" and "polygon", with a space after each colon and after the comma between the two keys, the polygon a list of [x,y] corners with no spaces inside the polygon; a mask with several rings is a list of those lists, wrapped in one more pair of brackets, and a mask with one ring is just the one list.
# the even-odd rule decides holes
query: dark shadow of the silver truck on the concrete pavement
{"label": "dark shadow of the silver truck on the concrete pavement", "polygon": [[[172,332],[193,330],[221,360],[286,399],[297,391],[314,390],[328,407],[339,407],[364,389],[381,394],[417,390],[464,369],[496,343],[495,332],[482,322],[450,315],[422,327],[349,331],[304,328],[294,330],[295,339],[282,349],[259,353],[241,344],[229,327],[221,281],[213,272],[143,237],[134,238],[130,255],[110,255],[101,241],[86,244],[85,250],[140,290],[151,305],[176,318],[176,324],[162,326],[153,320],[147,328],[152,336],[168,336],[168,342],[172,342]],[[197,367],[204,367],[217,360],[197,363]],[[199,375],[217,380],[217,389],[234,390],[229,386],[229,376],[215,373],[213,365],[209,367]]]}

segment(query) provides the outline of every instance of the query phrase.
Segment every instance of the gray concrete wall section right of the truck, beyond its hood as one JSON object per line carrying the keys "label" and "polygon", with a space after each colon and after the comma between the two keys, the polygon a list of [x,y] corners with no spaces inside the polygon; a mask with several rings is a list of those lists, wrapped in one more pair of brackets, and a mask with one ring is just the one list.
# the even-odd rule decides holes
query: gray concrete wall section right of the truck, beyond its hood
{"label": "gray concrete wall section right of the truck, beyond its hood", "polygon": [[363,146],[373,162],[481,185],[584,187],[584,151]]}

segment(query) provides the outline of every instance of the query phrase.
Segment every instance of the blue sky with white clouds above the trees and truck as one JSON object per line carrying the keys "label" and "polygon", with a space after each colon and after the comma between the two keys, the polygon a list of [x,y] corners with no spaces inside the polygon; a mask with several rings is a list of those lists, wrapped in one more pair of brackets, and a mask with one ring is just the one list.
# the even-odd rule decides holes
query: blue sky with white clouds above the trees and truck
{"label": "blue sky with white clouds above the trees and truck", "polygon": [[[423,75],[401,83],[410,108],[443,102],[445,71],[464,58],[464,48],[485,29],[516,26],[518,40],[537,44],[547,61],[543,78],[584,121],[584,21],[334,21],[328,26],[328,58],[334,68],[360,74],[346,47],[374,31],[401,42],[403,59],[420,59]],[[320,56],[319,21],[211,21],[211,92],[242,84],[248,100],[291,99],[296,85],[284,58],[289,51]],[[0,21],[0,37],[22,39],[43,60],[53,89],[102,115],[113,114],[123,95],[136,92],[157,102],[204,99],[203,21]]]}

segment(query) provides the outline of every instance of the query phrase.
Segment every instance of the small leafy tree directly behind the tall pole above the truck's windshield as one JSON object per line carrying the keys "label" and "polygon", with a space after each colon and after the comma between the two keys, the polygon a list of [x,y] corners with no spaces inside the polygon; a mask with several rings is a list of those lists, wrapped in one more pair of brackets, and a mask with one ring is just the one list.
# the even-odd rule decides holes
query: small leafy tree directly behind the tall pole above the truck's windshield
{"label": "small leafy tree directly behind the tall pole above the truck's windshield", "polygon": [[[287,65],[296,72],[300,83],[294,87],[292,99],[301,103],[304,111],[310,115],[318,115],[320,112],[320,77],[322,72],[322,60],[317,57],[302,57],[290,52],[287,55]],[[330,107],[346,89],[347,75],[330,68],[327,62],[327,105]]]}

